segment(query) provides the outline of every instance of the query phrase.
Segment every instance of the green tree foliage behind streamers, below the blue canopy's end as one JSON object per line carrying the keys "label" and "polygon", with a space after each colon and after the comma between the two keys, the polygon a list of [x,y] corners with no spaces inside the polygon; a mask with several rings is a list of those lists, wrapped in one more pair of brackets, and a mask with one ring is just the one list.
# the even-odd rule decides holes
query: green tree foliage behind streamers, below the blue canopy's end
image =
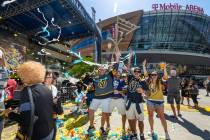
{"label": "green tree foliage behind streamers, below the blue canopy's end", "polygon": [[[84,57],[84,60],[93,62],[93,58]],[[83,74],[87,72],[92,72],[94,70],[94,66],[87,65],[83,62],[75,64],[72,68],[70,68],[69,72],[76,78],[80,78]]]}

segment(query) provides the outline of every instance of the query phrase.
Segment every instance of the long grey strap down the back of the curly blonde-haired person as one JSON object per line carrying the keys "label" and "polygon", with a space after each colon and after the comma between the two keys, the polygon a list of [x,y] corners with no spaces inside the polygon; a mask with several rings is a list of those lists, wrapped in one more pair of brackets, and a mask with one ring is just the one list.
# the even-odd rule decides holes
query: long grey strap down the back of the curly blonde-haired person
{"label": "long grey strap down the back of the curly blonde-haired person", "polygon": [[17,140],[31,140],[32,133],[33,133],[33,126],[34,126],[34,120],[35,120],[35,115],[34,115],[35,105],[34,105],[34,100],[33,100],[31,88],[27,87],[27,91],[28,91],[29,101],[30,101],[30,104],[31,104],[30,125],[29,125],[29,128],[28,128],[27,134],[23,134],[20,130],[18,130],[18,132],[16,134],[16,139]]}

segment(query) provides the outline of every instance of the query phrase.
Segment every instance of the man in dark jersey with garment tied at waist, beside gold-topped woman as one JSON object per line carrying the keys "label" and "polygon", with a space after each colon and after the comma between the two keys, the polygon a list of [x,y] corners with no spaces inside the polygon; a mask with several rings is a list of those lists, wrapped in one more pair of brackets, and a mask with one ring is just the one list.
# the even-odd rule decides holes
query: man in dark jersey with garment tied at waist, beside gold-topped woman
{"label": "man in dark jersey with garment tied at waist, beside gold-topped woman", "polygon": [[128,76],[128,94],[126,101],[126,117],[131,129],[130,139],[136,140],[136,121],[140,130],[140,139],[144,138],[144,99],[143,94],[148,90],[146,82],[141,78],[141,69],[135,68],[133,75]]}

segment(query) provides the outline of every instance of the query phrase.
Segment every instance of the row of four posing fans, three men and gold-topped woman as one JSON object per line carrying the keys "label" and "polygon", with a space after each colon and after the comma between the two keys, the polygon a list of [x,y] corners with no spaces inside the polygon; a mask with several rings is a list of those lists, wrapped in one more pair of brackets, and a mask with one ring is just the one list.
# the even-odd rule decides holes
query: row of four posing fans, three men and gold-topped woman
{"label": "row of four posing fans, three men and gold-topped woman", "polygon": [[[111,128],[110,114],[113,108],[116,107],[119,114],[122,116],[123,134],[125,134],[126,131],[125,123],[127,119],[131,131],[130,139],[137,139],[136,124],[138,123],[140,139],[144,140],[143,104],[145,100],[147,100],[152,137],[155,137],[153,114],[156,112],[165,130],[166,139],[170,139],[167,130],[167,122],[164,117],[164,96],[162,89],[162,83],[170,80],[168,79],[166,65],[163,68],[163,72],[163,77],[160,77],[157,71],[153,71],[149,74],[146,70],[146,60],[143,62],[143,72],[139,67],[134,68],[131,73],[122,72],[122,70],[119,69],[119,65],[117,68],[113,66],[110,70],[100,67],[98,69],[99,75],[93,77],[92,80],[95,88],[93,99],[87,99],[92,100],[89,107],[90,127],[88,131],[90,132],[95,129],[93,123],[94,113],[101,106],[102,117],[100,131],[102,135],[107,135],[108,130]],[[168,102],[172,105],[174,98],[176,98],[175,95],[168,99]],[[106,129],[104,128],[105,124]]]}

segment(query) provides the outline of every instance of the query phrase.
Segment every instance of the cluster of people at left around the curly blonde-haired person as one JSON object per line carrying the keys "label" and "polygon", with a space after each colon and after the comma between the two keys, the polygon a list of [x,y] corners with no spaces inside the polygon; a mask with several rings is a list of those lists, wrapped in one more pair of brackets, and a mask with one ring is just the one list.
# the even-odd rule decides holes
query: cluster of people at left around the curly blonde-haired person
{"label": "cluster of people at left around the curly blonde-haired person", "polygon": [[18,123],[17,140],[54,140],[56,115],[63,113],[56,88],[56,73],[39,62],[28,61],[11,79],[0,50],[0,139],[6,121]]}

